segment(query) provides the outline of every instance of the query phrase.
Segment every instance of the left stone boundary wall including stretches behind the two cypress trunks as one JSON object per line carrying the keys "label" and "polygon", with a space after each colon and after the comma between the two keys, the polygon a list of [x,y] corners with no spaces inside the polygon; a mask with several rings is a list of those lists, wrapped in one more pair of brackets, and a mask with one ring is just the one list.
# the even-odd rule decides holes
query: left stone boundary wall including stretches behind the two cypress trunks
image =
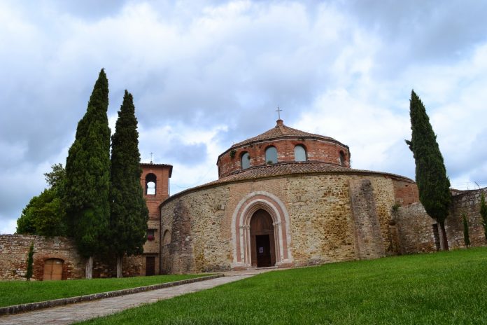
{"label": "left stone boundary wall including stretches behind the two cypress trunks", "polygon": [[[34,242],[33,280],[42,280],[45,261],[58,258],[63,262],[62,279],[83,279],[85,258],[78,254],[73,240],[66,237],[44,237],[37,235],[0,235],[0,279],[25,279],[27,255]],[[144,256],[125,256],[122,261],[124,277],[145,274]],[[93,277],[115,277],[115,258],[95,256]],[[157,265],[158,266],[158,265]]]}

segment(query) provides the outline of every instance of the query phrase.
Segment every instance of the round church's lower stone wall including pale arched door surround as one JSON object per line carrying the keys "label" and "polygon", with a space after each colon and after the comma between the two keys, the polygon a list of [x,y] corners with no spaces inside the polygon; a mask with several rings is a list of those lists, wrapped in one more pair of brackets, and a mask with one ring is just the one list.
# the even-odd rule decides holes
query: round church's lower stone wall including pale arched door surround
{"label": "round church's lower stone wall including pale arched door surround", "polygon": [[384,256],[394,246],[389,223],[396,181],[407,179],[361,172],[299,174],[174,195],[161,206],[162,228],[170,233],[162,246],[162,272],[250,267],[244,219],[253,205],[274,215],[278,266]]}

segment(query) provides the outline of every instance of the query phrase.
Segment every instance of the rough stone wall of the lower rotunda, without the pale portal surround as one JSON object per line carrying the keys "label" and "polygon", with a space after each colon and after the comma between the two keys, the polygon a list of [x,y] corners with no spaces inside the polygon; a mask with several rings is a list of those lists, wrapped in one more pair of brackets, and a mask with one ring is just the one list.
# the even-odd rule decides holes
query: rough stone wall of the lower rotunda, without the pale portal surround
{"label": "rough stone wall of the lower rotunda, without the pale portal surround", "polygon": [[[170,233],[170,244],[162,245],[162,272],[184,273],[232,268],[232,216],[248,193],[266,191],[285,205],[290,216],[290,243],[294,265],[314,265],[359,258],[355,249],[355,225],[351,212],[349,181],[368,180],[367,216],[376,214],[369,231],[380,233],[382,255],[393,247],[390,240],[390,214],[395,202],[393,180],[381,175],[313,174],[241,181],[183,193],[163,202],[163,233]],[[377,227],[379,226],[379,228]],[[364,240],[362,245],[368,245]],[[374,256],[375,257],[375,256]]]}

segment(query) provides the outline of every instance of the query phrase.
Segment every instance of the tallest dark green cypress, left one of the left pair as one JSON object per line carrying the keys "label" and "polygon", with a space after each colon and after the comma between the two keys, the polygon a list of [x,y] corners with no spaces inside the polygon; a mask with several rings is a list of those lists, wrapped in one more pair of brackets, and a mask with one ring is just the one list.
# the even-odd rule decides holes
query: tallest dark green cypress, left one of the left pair
{"label": "tallest dark green cypress, left one of the left pair", "polygon": [[108,80],[101,69],[79,121],[76,138],[66,159],[64,203],[71,235],[86,260],[86,277],[92,278],[93,255],[105,250],[104,236],[110,216],[110,128]]}

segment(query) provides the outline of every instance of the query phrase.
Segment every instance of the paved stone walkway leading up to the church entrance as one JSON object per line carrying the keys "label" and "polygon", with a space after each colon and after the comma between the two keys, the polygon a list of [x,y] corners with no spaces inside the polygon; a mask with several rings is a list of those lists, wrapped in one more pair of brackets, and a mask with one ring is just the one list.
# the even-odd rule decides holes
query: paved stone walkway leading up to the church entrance
{"label": "paved stone walkway leading up to the church entrance", "polygon": [[157,300],[181,296],[185,293],[210,289],[214,286],[246,279],[269,270],[250,270],[242,272],[226,272],[225,277],[210,279],[202,282],[182,284],[170,288],[145,291],[127,296],[94,300],[87,303],[76,303],[62,307],[53,307],[34,312],[24,312],[0,317],[0,324],[71,324],[76,321],[105,316],[136,307],[144,303],[155,303]]}

